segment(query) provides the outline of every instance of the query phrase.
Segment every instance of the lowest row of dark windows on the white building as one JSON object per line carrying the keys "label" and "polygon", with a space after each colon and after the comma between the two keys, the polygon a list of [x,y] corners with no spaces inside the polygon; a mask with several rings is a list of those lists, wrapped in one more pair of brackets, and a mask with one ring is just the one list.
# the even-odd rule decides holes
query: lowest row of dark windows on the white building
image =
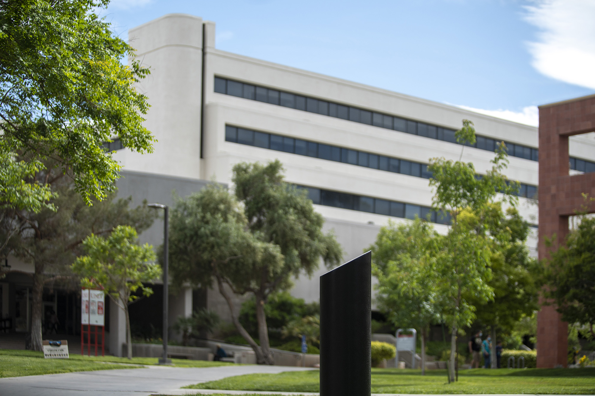
{"label": "lowest row of dark windows on the white building", "polygon": [[308,191],[312,203],[334,208],[359,210],[360,212],[377,213],[378,215],[394,216],[404,219],[427,219],[437,224],[450,224],[450,215],[436,212],[428,206],[412,205],[410,203],[372,198],[354,194],[339,193],[337,191],[322,190],[321,188],[297,186]]}

